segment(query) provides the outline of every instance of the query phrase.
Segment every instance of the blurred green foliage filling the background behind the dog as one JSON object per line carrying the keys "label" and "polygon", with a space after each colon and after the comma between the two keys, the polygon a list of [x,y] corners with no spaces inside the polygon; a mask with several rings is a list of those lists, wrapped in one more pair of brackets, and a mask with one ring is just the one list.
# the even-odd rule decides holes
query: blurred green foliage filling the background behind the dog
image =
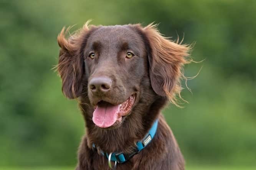
{"label": "blurred green foliage filling the background behind the dog", "polygon": [[84,134],[76,101],[65,99],[56,37],[63,26],[155,21],[196,42],[185,68],[191,94],[164,114],[187,164],[256,165],[255,0],[2,0],[0,166],[75,165]]}

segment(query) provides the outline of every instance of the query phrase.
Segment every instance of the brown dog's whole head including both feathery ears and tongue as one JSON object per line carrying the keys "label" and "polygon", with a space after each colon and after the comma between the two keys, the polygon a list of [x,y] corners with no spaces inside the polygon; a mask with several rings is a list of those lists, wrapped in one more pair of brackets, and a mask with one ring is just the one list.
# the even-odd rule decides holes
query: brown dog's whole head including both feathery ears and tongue
{"label": "brown dog's whole head including both feathery ears and tongue", "polygon": [[188,45],[166,39],[152,24],[86,24],[66,39],[67,32],[58,36],[62,90],[70,99],[89,99],[96,126],[118,127],[135,107],[143,112],[159,97],[177,104]]}

